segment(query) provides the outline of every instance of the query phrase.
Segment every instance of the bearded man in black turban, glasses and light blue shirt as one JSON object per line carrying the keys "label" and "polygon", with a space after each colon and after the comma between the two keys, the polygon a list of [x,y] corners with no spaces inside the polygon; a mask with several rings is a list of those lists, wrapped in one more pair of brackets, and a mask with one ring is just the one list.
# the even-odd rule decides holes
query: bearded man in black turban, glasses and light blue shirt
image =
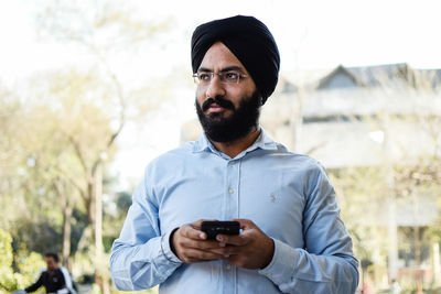
{"label": "bearded man in black turban, glasses and light blue shirt", "polygon": [[[160,293],[354,293],[358,273],[335,193],[314,160],[259,127],[279,52],[251,17],[192,37],[202,138],[151,162],[112,247],[120,290]],[[238,220],[207,240],[203,219]]]}

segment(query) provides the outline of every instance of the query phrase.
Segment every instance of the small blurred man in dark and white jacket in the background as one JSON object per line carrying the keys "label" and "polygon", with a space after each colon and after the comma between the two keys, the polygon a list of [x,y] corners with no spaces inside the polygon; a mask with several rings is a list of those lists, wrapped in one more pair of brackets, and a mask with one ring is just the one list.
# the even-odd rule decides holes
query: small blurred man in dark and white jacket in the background
{"label": "small blurred man in dark and white jacket in the background", "polygon": [[24,291],[26,293],[35,292],[39,287],[44,286],[46,293],[76,294],[69,273],[66,269],[58,266],[58,255],[56,253],[46,253],[44,261],[46,262],[46,270],[42,272],[35,283]]}

